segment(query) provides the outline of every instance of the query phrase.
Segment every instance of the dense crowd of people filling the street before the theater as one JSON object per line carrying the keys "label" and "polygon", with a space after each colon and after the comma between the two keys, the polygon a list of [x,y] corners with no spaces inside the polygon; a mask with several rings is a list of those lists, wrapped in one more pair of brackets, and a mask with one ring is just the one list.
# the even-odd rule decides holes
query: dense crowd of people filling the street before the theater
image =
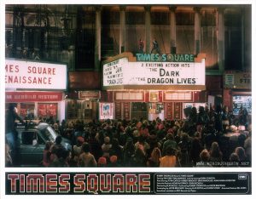
{"label": "dense crowd of people filling the street before the theater", "polygon": [[193,107],[177,121],[48,122],[59,136],[45,145],[44,167],[251,167],[251,124],[226,106]]}

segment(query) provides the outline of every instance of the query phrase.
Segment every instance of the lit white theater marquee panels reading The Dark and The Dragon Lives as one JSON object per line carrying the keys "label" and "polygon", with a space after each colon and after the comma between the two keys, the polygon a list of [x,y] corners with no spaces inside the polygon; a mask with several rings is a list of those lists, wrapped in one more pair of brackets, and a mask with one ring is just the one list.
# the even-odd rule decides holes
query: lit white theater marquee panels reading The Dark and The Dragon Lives
{"label": "lit white theater marquee panels reading The Dark and The Dragon Lives", "polygon": [[103,86],[205,85],[205,60],[185,58],[183,62],[114,60],[103,65]]}

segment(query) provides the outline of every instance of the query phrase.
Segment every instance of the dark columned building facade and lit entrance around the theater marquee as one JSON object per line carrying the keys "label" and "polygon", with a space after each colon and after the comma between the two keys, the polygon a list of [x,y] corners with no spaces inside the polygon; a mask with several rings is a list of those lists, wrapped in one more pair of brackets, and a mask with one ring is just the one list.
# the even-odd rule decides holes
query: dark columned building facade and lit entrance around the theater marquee
{"label": "dark columned building facade and lit entrance around the theater marquee", "polygon": [[[251,5],[6,5],[5,19],[7,59],[67,65],[67,119],[97,119],[99,103],[130,120],[251,100],[251,82],[226,82],[230,73],[251,79]],[[205,88],[105,88],[103,65],[125,53],[205,54]]]}

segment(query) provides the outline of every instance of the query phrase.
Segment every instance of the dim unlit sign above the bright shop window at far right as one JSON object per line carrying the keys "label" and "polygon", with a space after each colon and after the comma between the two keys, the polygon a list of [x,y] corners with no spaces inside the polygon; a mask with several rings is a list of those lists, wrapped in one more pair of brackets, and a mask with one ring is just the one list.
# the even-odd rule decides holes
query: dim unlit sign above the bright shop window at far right
{"label": "dim unlit sign above the bright shop window at far right", "polygon": [[224,88],[252,88],[252,73],[227,72],[224,75]]}

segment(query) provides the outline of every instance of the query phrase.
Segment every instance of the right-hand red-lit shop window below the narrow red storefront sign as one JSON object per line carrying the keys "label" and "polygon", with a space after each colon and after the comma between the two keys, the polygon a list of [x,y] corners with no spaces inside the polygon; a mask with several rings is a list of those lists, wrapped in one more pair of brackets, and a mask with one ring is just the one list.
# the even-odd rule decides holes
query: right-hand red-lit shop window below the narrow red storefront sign
{"label": "right-hand red-lit shop window below the narrow red storefront sign", "polygon": [[38,104],[38,117],[42,117],[42,118],[53,117],[56,120],[57,112],[58,112],[57,103]]}

